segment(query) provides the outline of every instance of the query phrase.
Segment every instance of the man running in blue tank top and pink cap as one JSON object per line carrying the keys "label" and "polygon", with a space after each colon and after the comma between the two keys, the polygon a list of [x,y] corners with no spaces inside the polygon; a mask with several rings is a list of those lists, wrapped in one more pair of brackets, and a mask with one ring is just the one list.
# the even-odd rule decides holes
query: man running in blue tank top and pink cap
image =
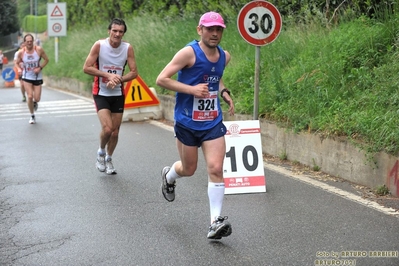
{"label": "man running in blue tank top and pink cap", "polygon": [[[167,201],[175,199],[176,180],[194,175],[198,147],[202,148],[208,171],[210,227],[208,239],[221,239],[232,232],[231,224],[222,216],[224,198],[223,160],[226,152],[222,109],[219,96],[234,115],[230,91],[222,76],[230,54],[219,43],[226,28],[222,16],[208,12],[197,26],[200,40],[194,40],[178,51],[159,74],[158,86],[176,92],[175,136],[180,161],[162,169],[162,193]],[[172,79],[178,74],[177,80]]]}

